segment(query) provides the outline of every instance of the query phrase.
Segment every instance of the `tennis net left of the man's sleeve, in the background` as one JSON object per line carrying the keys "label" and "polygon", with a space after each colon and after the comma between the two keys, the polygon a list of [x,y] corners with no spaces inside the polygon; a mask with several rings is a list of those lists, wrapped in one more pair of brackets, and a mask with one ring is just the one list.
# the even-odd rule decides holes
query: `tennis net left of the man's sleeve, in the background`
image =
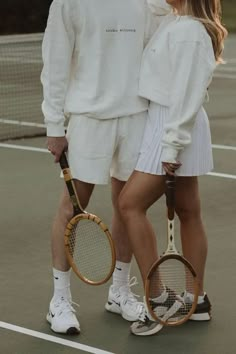
{"label": "tennis net left of the man's sleeve, in the background", "polygon": [[45,135],[43,34],[0,36],[0,141]]}

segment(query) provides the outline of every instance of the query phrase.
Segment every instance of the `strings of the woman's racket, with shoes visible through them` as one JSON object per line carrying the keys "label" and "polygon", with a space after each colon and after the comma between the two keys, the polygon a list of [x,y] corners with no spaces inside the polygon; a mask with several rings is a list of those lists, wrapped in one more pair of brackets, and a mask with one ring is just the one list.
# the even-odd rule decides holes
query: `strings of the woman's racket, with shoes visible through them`
{"label": "strings of the woman's racket, with shoes visible through them", "polygon": [[185,263],[168,259],[157,265],[149,278],[153,317],[166,324],[183,322],[193,309],[193,303],[185,301],[186,290],[195,293],[195,276]]}

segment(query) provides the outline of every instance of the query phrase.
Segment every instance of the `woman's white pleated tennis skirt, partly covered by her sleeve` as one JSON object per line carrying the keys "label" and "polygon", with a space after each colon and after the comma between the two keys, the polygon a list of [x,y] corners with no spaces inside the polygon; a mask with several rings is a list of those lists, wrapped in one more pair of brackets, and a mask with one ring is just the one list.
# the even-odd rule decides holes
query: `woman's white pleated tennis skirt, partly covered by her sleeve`
{"label": "woman's white pleated tennis skirt, partly covered by her sleeve", "polygon": [[[161,141],[168,113],[168,107],[156,103],[150,104],[135,170],[154,175],[165,174],[161,163]],[[200,176],[213,169],[210,126],[203,107],[196,117],[192,142],[179,153],[178,160],[182,166],[176,171],[177,176]]]}

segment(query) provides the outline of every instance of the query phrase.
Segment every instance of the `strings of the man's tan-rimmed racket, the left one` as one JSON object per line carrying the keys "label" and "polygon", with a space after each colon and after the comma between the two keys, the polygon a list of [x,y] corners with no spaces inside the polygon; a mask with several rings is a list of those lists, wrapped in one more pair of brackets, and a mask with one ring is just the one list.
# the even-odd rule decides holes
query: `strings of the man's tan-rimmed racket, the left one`
{"label": "strings of the man's tan-rimmed racket, the left one", "polygon": [[68,249],[83,278],[104,280],[113,266],[111,245],[106,232],[94,221],[79,220],[71,229]]}

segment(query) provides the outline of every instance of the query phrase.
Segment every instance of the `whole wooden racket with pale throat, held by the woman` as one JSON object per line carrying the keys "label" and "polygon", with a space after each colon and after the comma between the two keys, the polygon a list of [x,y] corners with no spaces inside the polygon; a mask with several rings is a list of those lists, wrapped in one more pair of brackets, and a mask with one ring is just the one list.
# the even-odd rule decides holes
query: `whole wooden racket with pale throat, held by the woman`
{"label": "whole wooden racket with pale throat, held by the woman", "polygon": [[[167,175],[167,238],[164,254],[151,267],[145,284],[147,308],[154,320],[176,326],[189,319],[196,309],[198,280],[192,265],[179,254],[174,240],[175,177]],[[185,302],[185,291],[194,295]]]}

